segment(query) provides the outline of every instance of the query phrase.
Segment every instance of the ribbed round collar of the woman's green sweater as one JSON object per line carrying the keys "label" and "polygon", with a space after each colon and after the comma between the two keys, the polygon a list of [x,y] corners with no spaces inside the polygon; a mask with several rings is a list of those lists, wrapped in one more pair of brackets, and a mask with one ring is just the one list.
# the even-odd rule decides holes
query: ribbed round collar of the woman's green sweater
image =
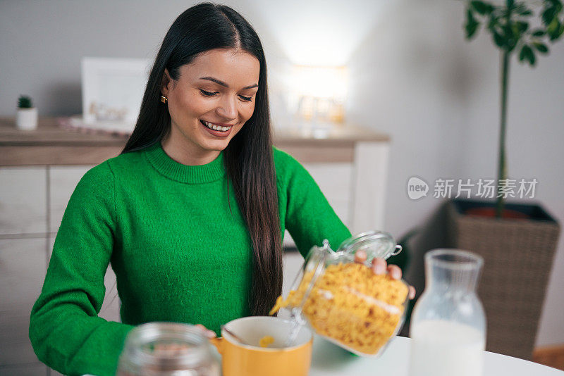
{"label": "ribbed round collar of the woman's green sweater", "polygon": [[188,184],[202,184],[213,182],[225,175],[223,168],[223,151],[214,161],[205,165],[183,165],[163,150],[161,142],[157,142],[145,149],[145,156],[153,167],[169,179]]}

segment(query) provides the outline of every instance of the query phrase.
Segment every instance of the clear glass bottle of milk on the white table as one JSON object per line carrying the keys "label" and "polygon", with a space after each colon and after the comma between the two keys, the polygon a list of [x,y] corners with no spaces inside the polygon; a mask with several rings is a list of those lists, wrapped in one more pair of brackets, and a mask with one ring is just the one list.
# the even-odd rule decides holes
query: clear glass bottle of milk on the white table
{"label": "clear glass bottle of milk on the white table", "polygon": [[410,376],[481,376],[486,315],[476,294],[484,259],[468,251],[425,254],[425,290],[411,317]]}

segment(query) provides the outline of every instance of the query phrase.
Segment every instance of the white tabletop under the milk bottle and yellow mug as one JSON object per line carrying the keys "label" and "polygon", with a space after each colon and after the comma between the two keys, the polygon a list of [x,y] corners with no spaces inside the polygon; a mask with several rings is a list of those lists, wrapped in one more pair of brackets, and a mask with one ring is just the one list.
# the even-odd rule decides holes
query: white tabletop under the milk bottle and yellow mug
{"label": "white tabletop under the milk bottle and yellow mug", "polygon": [[[380,358],[361,358],[319,337],[314,338],[309,376],[407,376],[410,338],[396,337]],[[484,351],[483,376],[564,376],[556,368]]]}

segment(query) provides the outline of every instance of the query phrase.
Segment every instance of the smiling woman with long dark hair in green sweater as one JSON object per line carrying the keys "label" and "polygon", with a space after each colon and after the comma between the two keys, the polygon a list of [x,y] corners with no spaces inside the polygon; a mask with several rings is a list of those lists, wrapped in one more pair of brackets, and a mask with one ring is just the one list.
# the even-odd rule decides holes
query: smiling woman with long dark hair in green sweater
{"label": "smiling woman with long dark hair in green sweater", "polygon": [[[71,196],[32,308],[37,356],[65,374],[113,375],[134,325],[200,323],[215,335],[266,314],[281,294],[286,228],[302,254],[350,237],[300,163],[272,148],[255,31],[227,6],[193,6],[164,38],[125,149]],[[109,263],[122,323],[97,316]]]}

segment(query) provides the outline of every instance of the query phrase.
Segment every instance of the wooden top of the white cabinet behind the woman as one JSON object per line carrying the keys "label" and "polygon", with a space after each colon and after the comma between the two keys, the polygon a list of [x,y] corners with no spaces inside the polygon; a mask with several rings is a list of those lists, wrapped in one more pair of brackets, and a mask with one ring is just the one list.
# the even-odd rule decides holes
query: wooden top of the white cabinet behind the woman
{"label": "wooden top of the white cabinet behind the woman", "polygon": [[[353,125],[305,129],[275,128],[274,144],[302,162],[337,162],[352,161],[357,142],[389,141],[386,134]],[[32,131],[16,129],[13,118],[0,118],[0,165],[93,165],[118,155],[127,140],[123,134],[61,127],[58,118],[40,118]]]}

